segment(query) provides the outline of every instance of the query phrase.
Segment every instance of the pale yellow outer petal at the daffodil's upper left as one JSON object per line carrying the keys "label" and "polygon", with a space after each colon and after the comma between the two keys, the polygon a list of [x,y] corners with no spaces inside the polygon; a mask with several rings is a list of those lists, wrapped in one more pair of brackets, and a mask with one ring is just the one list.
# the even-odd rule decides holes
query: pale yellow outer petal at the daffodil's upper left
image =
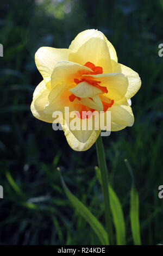
{"label": "pale yellow outer petal at the daffodil's upper left", "polygon": [[68,60],[68,49],[41,47],[35,53],[35,63],[45,82],[51,79],[54,66],[61,60]]}

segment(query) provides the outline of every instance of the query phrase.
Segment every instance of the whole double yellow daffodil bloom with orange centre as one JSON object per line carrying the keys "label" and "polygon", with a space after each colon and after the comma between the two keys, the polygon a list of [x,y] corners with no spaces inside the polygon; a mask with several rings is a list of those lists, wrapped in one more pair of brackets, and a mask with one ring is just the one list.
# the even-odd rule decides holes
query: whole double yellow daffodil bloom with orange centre
{"label": "whole double yellow daffodil bloom with orange centre", "polygon": [[[79,33],[68,49],[41,47],[35,54],[43,80],[33,94],[31,111],[37,119],[53,123],[54,111],[111,112],[111,131],[132,126],[134,115],[130,98],[141,86],[139,74],[117,62],[115,48],[102,32],[88,29]],[[63,115],[64,117],[64,115]],[[101,132],[71,130],[60,121],[70,147],[89,149]]]}

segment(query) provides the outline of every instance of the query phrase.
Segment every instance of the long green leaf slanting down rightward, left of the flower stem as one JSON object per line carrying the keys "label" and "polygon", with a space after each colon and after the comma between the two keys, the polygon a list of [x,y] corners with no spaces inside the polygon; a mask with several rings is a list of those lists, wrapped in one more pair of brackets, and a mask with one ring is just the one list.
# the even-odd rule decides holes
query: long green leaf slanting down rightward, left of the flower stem
{"label": "long green leaf slanting down rightward, left of the flower stem", "polygon": [[61,181],[62,181],[62,186],[64,187],[64,190],[65,190],[66,196],[68,197],[68,199],[70,200],[74,208],[77,210],[78,214],[80,214],[85,219],[85,221],[90,224],[91,228],[95,231],[99,240],[102,242],[102,245],[108,245],[108,236],[102,224],[90,212],[90,210],[87,209],[86,206],[82,202],[80,202],[80,200],[77,199],[71,193],[70,190],[68,190],[62,176],[61,176]]}

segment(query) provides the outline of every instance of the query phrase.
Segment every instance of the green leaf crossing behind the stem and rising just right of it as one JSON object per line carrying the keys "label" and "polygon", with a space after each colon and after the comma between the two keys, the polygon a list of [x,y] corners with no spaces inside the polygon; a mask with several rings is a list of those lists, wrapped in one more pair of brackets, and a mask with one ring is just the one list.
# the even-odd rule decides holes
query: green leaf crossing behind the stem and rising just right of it
{"label": "green leaf crossing behind the stem and rising just right of it", "polygon": [[[98,167],[95,167],[95,171],[96,171],[97,179],[101,184],[102,181],[101,181],[100,169]],[[114,190],[110,185],[109,185],[109,198],[110,198],[111,213],[112,213],[112,217],[113,217],[113,221],[116,229],[117,245],[125,245],[126,244],[126,228],[125,228],[122,205],[116,193],[114,192]]]}

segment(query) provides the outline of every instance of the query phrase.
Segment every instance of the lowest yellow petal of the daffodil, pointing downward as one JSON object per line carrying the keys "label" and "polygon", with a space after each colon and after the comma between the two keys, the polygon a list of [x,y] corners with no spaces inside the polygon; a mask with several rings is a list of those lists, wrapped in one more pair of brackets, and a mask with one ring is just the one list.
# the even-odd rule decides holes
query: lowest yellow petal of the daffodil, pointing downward
{"label": "lowest yellow petal of the daffodil, pointing downward", "polygon": [[68,144],[73,150],[76,151],[85,151],[89,149],[98,138],[100,134],[99,131],[70,131],[66,122],[61,123],[62,128],[65,132],[65,136]]}

